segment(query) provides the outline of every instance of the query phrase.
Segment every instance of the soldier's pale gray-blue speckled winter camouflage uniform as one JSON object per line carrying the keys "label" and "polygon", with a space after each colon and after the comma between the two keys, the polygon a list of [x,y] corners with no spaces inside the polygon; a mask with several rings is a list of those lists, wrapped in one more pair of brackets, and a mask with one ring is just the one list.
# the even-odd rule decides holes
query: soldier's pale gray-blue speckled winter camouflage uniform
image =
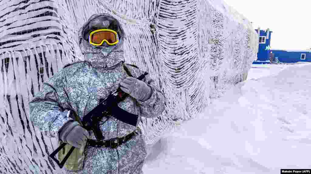
{"label": "soldier's pale gray-blue speckled winter camouflage uniform", "polygon": [[[106,14],[91,16],[83,27],[86,27],[90,20],[100,15]],[[49,78],[41,91],[35,94],[37,99],[42,100],[30,102],[31,121],[46,136],[58,138],[58,131],[61,127],[72,120],[72,118],[67,117],[68,111],[65,108],[68,105],[82,120],[83,116],[98,105],[99,99],[105,98],[110,91],[116,90],[119,83],[128,77],[122,66],[124,37],[120,39],[118,44],[108,49],[95,49],[93,45],[81,39],[82,35],[83,33],[80,30],[80,48],[86,61],[69,65]],[[143,71],[134,66],[125,66],[128,67],[134,78],[144,74]],[[164,95],[154,86],[153,80],[146,75],[142,81],[152,88],[152,95],[148,100],[142,102],[128,96],[118,104],[120,108],[129,113],[139,115],[138,123],[141,116],[154,118],[164,110]],[[104,117],[102,121],[106,119]],[[137,127],[123,123],[113,117],[109,117],[100,126],[100,129],[104,140],[123,137],[135,130],[138,135],[115,149],[87,146],[83,170],[77,172],[67,170],[67,173],[142,173],[142,165],[146,157],[146,144],[141,131]],[[96,140],[94,133],[92,131],[89,133],[90,138]]]}

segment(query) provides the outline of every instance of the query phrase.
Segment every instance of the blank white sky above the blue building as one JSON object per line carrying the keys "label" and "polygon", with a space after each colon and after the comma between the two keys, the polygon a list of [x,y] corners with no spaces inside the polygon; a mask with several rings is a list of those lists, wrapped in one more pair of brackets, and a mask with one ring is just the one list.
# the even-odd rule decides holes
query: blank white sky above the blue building
{"label": "blank white sky above the blue building", "polygon": [[272,49],[311,48],[311,0],[223,0],[253,22],[272,31]]}

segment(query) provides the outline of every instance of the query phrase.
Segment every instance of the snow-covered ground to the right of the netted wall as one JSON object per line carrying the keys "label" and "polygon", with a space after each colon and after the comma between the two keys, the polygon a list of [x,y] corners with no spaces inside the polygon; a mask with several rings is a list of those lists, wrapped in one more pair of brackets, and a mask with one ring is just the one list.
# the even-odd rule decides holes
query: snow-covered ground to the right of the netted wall
{"label": "snow-covered ground to the right of the netted wall", "polygon": [[146,174],[280,173],[311,168],[311,63],[252,68],[248,79],[161,139]]}

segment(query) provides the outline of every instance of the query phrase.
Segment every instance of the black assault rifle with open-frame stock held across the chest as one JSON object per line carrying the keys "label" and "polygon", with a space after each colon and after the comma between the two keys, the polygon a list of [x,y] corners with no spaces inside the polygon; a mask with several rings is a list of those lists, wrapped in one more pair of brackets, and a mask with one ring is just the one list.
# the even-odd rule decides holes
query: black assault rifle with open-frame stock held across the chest
{"label": "black assault rifle with open-frame stock held across the chest", "polygon": [[[145,76],[148,73],[145,72],[145,74],[140,75],[137,79],[142,80],[145,78]],[[83,117],[83,121],[81,122],[79,117],[75,115],[75,118],[78,119],[78,121],[83,128],[90,131],[92,130],[94,132],[94,135],[97,140],[102,140],[104,138],[100,127],[99,127],[99,121],[103,117],[107,117],[109,115],[113,116],[114,118],[117,118],[118,120],[131,124],[133,126],[136,126],[138,115],[128,113],[127,111],[121,109],[118,107],[118,103],[122,100],[124,100],[128,96],[127,93],[123,92],[120,87],[115,90],[114,92],[111,92],[105,99],[101,99],[99,105],[97,105],[93,110],[91,110],[89,113],[87,113]],[[75,112],[73,112],[75,114]],[[67,159],[72,154],[73,150],[75,149],[74,146],[71,147],[69,152],[65,155],[65,158],[59,162],[58,159],[55,158],[55,155],[65,147],[67,143],[62,143],[55,151],[53,151],[49,157],[51,157],[60,168],[63,168]]]}

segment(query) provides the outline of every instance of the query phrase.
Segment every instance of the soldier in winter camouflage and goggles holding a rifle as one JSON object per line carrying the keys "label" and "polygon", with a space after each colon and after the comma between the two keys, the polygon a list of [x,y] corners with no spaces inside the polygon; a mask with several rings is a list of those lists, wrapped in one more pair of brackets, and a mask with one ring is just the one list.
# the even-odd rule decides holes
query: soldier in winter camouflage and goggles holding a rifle
{"label": "soldier in winter camouflage and goggles holding a rifle", "polygon": [[[91,16],[79,31],[85,61],[65,66],[44,83],[30,102],[31,122],[44,135],[85,148],[83,157],[77,159],[80,165],[65,165],[67,173],[142,173],[146,143],[137,125],[141,116],[159,116],[165,108],[165,98],[148,75],[138,80],[144,72],[124,63],[124,37],[120,22],[111,15]],[[72,113],[83,120],[100,99],[118,87],[129,95],[118,107],[138,115],[138,121],[130,125],[114,117],[103,117],[99,128],[104,138],[95,141],[94,132],[84,129]]]}

